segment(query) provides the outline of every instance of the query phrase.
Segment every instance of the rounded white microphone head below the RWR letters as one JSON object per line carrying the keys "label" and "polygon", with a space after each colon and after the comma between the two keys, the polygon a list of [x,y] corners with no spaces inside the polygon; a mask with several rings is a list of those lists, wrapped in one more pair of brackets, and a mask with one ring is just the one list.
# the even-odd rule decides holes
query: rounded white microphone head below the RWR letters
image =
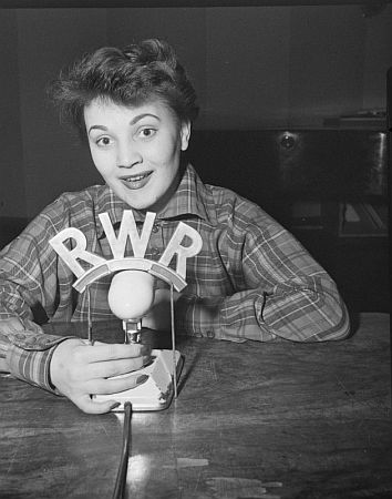
{"label": "rounded white microphone head below the RWR letters", "polygon": [[144,271],[123,271],[112,278],[109,306],[122,320],[137,322],[154,304],[154,277]]}

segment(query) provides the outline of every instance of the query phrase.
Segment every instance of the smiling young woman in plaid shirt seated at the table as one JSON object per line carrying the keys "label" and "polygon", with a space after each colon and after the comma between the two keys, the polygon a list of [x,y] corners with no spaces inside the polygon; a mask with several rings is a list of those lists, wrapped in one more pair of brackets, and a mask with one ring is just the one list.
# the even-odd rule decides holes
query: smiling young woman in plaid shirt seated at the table
{"label": "smiling young woman in plaid shirt seated at the table", "polygon": [[[330,276],[259,206],[204,184],[183,160],[196,94],[173,49],[146,40],[124,50],[103,48],[78,61],[52,85],[63,116],[87,140],[104,184],[64,193],[0,254],[0,361],[2,370],[55,394],[86,413],[115,404],[90,394],[115,394],[144,378],[112,376],[142,367],[142,345],[97,345],[45,335],[34,314],[51,322],[85,320],[87,299],[74,274],[49,245],[65,227],[86,236],[86,249],[112,253],[99,215],[114,226],[124,210],[143,224],[155,212],[145,257],[158,259],[183,221],[202,235],[187,261],[187,287],[175,296],[176,328],[219,339],[331,340],[349,333],[345,306]],[[240,165],[239,165],[240,166]],[[238,172],[240,174],[240,171]],[[126,256],[132,256],[128,248]],[[112,317],[111,276],[91,286],[94,320]],[[165,328],[168,289],[155,293],[143,326]]]}

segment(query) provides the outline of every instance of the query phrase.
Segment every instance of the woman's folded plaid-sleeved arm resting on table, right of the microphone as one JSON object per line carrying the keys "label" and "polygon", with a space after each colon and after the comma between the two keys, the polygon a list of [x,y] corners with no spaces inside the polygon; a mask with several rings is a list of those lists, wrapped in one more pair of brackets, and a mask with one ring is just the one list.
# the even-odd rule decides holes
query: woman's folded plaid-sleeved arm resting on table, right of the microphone
{"label": "woman's folded plaid-sleeved arm resting on table, right of the microphone", "polygon": [[200,297],[185,291],[176,303],[177,328],[236,342],[348,336],[349,316],[336,283],[290,233],[279,224],[252,224],[241,246],[231,252],[241,265],[236,292]]}

